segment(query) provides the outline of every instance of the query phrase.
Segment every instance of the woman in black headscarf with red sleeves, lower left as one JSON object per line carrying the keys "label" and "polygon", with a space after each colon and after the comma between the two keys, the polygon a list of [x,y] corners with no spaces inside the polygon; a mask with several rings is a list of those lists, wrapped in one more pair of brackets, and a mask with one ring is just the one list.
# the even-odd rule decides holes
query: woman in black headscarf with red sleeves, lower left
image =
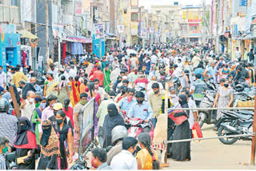
{"label": "woman in black headscarf with red sleeves, lower left", "polygon": [[37,141],[27,117],[18,118],[18,131],[11,151],[16,151],[18,169],[35,169]]}

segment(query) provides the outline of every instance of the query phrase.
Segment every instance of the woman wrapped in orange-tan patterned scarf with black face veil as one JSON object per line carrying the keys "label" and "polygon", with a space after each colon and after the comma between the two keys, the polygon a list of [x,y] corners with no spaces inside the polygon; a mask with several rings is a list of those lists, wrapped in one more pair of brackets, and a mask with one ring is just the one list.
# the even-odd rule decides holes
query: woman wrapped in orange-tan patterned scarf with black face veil
{"label": "woman wrapped in orange-tan patterned scarf with black face veil", "polygon": [[51,125],[51,121],[46,119],[42,122],[42,135],[40,137],[41,157],[38,162],[38,169],[61,169],[60,148],[58,135]]}

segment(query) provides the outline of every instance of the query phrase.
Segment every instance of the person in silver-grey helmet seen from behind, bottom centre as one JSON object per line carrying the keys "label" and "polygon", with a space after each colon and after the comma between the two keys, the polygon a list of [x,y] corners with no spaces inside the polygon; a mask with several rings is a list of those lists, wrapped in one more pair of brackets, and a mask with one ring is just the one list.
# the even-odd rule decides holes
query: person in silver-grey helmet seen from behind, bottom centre
{"label": "person in silver-grey helmet seen from behind, bottom centre", "polygon": [[112,129],[111,142],[114,145],[107,153],[106,163],[110,165],[112,158],[122,151],[122,139],[128,136],[128,131],[125,126],[117,125]]}

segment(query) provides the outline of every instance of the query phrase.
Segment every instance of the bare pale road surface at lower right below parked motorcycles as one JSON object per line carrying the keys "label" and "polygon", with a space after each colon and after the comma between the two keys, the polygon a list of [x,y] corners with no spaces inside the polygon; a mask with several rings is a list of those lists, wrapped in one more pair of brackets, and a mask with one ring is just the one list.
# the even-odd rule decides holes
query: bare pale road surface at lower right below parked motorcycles
{"label": "bare pale road surface at lower right below parked motorcycles", "polygon": [[[213,125],[203,125],[204,137],[216,137]],[[168,159],[165,169],[256,169],[250,165],[251,141],[239,140],[234,145],[224,145],[218,139],[191,142],[191,161]]]}

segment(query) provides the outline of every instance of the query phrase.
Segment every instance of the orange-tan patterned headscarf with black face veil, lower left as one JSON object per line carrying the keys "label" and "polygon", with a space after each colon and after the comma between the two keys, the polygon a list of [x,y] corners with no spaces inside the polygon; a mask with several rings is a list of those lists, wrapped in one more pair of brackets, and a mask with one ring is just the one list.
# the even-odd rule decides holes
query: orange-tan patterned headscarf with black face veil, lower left
{"label": "orange-tan patterned headscarf with black face veil, lower left", "polygon": [[42,137],[40,145],[42,145],[42,154],[47,157],[60,153],[58,136],[48,119],[42,122]]}

